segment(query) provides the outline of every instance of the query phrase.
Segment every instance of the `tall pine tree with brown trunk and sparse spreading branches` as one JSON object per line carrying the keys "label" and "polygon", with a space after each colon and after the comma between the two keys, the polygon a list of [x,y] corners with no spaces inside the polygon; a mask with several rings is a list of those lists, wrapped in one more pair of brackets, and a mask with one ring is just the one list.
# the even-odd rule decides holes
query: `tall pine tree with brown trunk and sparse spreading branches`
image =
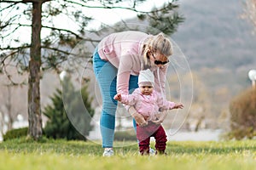
{"label": "tall pine tree with brown trunk and sparse spreading branches", "polygon": [[[177,25],[183,17],[177,14],[178,5],[166,3],[160,8],[151,11],[137,10],[137,6],[146,0],[130,1],[124,6],[125,1],[97,1],[99,5],[90,5],[87,0],[1,0],[0,1],[0,28],[1,28],[1,71],[9,77],[12,84],[17,84],[5,69],[15,65],[22,74],[28,72],[28,135],[33,139],[42,136],[42,116],[40,105],[40,76],[42,71],[61,71],[61,63],[67,57],[73,56],[72,48],[81,40],[99,42],[86,35],[86,26],[92,18],[86,16],[88,8],[121,8],[137,13],[140,20],[149,20],[150,26],[160,29],[164,33],[177,30]],[[119,3],[122,3],[119,6]],[[12,14],[12,15],[9,15]],[[65,15],[68,20],[73,20],[73,26],[55,26],[55,19]],[[63,20],[63,19],[62,19]],[[160,20],[160,23],[159,21]],[[164,22],[164,23],[163,23]],[[125,26],[125,22],[123,23]],[[102,25],[102,27],[106,27]],[[27,28],[30,28],[28,30]],[[154,31],[155,31],[154,28]],[[31,32],[31,40],[22,42],[19,37],[25,31]],[[43,36],[44,32],[44,37]],[[97,31],[92,31],[98,33]],[[90,56],[89,50],[84,50],[83,56]],[[74,55],[74,59],[77,59]],[[25,81],[26,82],[26,81]]]}

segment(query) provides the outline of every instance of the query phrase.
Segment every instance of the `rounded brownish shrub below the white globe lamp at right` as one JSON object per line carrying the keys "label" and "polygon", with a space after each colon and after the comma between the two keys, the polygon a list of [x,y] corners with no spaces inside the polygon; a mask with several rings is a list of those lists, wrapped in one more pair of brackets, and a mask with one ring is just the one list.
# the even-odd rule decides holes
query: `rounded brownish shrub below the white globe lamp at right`
{"label": "rounded brownish shrub below the white globe lamp at right", "polygon": [[253,139],[256,135],[256,88],[249,88],[231,100],[230,130],[230,139]]}

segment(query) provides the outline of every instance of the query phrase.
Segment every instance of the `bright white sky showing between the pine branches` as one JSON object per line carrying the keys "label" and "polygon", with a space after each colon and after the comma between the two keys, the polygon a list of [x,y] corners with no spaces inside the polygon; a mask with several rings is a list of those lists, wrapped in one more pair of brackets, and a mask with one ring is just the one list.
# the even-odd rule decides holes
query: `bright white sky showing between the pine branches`
{"label": "bright white sky showing between the pine branches", "polygon": [[[160,7],[161,5],[163,5],[163,3],[168,3],[168,2],[172,2],[172,0],[148,0],[145,3],[140,4],[139,6],[137,6],[137,10],[150,10],[153,7]],[[131,3],[133,1],[127,1],[125,3],[119,3],[119,4],[115,4],[118,6],[131,6]],[[53,5],[54,3],[56,3],[55,1],[51,2]],[[101,6],[101,3],[98,3],[97,1],[89,1],[88,3],[86,3],[86,5],[88,6]],[[1,7],[3,8],[3,6]],[[22,13],[23,9],[22,8],[26,8],[26,4],[21,4],[20,5],[20,10],[19,9],[15,9],[12,10],[12,12],[10,13],[2,13],[1,18],[7,20],[9,17],[13,17],[14,11],[16,11],[16,13]],[[106,25],[113,25],[117,22],[119,22],[120,20],[127,20],[127,19],[131,19],[136,17],[136,12],[127,10],[127,9],[120,9],[120,8],[115,8],[115,9],[109,9],[109,8],[86,8],[86,14],[88,14],[89,17],[92,17],[93,21],[91,21],[90,25],[86,28],[86,30],[91,30],[91,29],[97,29],[99,28],[99,26],[101,26],[101,24],[106,24]],[[3,16],[4,15],[4,16]],[[64,18],[66,16],[64,15],[60,15],[59,17],[55,18],[54,23],[56,27],[60,27],[60,28],[70,28],[71,30],[76,30],[75,28],[75,23],[73,22],[73,20],[68,20],[67,18]],[[18,20],[17,22],[19,23],[25,23],[24,20],[26,20],[25,18],[21,18],[20,20]],[[44,22],[44,24],[47,22]],[[25,23],[25,24],[30,24],[30,23]],[[49,35],[49,32],[47,32],[46,30],[42,30],[42,38],[44,38],[44,35]],[[28,42],[31,39],[31,28],[30,27],[23,27],[22,29],[20,29],[20,31],[17,31],[16,34],[13,34],[12,37],[9,37],[9,40],[6,42],[3,42],[5,44],[10,44],[12,43],[16,43],[13,40],[15,38],[19,38],[20,42]],[[18,45],[18,44],[17,44]]]}

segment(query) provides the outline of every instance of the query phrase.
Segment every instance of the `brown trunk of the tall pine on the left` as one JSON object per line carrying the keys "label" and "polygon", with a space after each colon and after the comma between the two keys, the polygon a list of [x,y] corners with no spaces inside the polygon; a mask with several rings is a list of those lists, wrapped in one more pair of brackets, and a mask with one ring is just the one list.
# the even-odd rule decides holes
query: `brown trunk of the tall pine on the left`
{"label": "brown trunk of the tall pine on the left", "polygon": [[42,116],[40,105],[40,67],[41,67],[41,18],[42,3],[32,3],[32,46],[28,78],[28,135],[33,139],[42,136]]}

